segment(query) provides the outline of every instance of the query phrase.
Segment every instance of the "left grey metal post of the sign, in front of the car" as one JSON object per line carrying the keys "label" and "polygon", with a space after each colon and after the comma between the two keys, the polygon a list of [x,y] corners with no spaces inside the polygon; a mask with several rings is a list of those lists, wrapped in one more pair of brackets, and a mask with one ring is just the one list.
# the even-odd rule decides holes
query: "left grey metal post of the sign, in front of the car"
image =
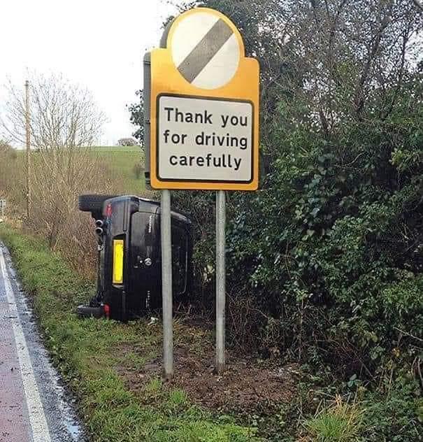
{"label": "left grey metal post of the sign, in front of the car", "polygon": [[163,190],[160,231],[162,238],[162,299],[163,299],[163,376],[173,377],[173,297],[172,297],[172,236],[171,192]]}

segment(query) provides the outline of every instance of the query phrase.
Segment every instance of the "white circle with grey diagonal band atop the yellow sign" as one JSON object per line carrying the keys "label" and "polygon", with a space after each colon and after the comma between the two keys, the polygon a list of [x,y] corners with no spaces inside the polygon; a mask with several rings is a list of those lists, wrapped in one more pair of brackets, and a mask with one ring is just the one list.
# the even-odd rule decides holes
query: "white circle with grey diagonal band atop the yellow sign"
{"label": "white circle with grey diagonal band atop the yellow sign", "polygon": [[189,83],[217,89],[234,78],[241,57],[238,38],[218,15],[199,10],[174,25],[171,52],[176,68]]}

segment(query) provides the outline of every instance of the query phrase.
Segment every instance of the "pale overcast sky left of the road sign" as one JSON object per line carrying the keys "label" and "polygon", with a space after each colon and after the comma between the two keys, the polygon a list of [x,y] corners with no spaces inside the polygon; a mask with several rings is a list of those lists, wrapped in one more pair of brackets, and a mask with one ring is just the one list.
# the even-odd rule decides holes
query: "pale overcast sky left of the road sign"
{"label": "pale overcast sky left of the road sign", "polygon": [[0,0],[0,106],[7,78],[23,87],[28,70],[62,73],[108,116],[101,144],[130,136],[143,55],[173,11],[166,0]]}

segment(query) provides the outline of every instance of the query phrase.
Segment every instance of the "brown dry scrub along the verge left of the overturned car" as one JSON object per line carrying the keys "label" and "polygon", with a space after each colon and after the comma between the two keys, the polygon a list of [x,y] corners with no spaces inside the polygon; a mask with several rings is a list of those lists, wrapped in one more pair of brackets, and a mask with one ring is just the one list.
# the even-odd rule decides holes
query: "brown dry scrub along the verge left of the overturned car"
{"label": "brown dry scrub along the verge left of the overturned car", "polygon": [[78,196],[109,194],[118,187],[110,178],[108,164],[89,148],[31,152],[31,215],[27,219],[24,162],[22,152],[0,152],[0,194],[8,200],[8,221],[45,238],[50,250],[61,252],[79,273],[94,278],[96,238],[89,213],[78,211]]}

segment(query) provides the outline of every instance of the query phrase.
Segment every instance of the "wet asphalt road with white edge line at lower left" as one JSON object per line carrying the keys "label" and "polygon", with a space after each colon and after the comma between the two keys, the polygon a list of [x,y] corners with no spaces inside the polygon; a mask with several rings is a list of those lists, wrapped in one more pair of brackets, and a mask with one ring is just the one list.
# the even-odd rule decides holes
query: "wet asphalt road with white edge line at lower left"
{"label": "wet asphalt road with white edge line at lower left", "polygon": [[74,401],[43,347],[0,243],[0,441],[83,442]]}

